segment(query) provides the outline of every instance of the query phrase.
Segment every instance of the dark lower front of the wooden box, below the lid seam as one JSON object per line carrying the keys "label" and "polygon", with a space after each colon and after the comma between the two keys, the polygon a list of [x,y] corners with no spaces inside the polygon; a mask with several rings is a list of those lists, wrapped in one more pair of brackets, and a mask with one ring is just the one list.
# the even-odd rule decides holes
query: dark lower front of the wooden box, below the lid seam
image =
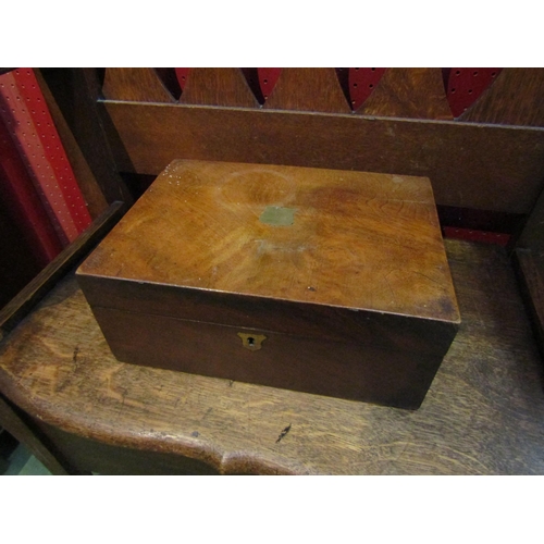
{"label": "dark lower front of the wooden box, below the lid seam", "polygon": [[[121,361],[399,408],[420,406],[442,360],[104,308],[94,312]],[[260,335],[261,348],[247,349],[238,333]]]}

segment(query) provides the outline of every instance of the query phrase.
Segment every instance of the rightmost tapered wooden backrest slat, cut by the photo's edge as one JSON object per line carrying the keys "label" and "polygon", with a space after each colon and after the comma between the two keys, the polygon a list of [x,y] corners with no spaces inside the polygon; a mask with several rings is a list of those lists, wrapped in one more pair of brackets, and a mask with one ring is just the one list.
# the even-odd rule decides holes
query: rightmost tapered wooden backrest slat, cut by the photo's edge
{"label": "rightmost tapered wooden backrest slat, cut by the photo's edge", "polygon": [[503,69],[461,121],[544,126],[544,69]]}

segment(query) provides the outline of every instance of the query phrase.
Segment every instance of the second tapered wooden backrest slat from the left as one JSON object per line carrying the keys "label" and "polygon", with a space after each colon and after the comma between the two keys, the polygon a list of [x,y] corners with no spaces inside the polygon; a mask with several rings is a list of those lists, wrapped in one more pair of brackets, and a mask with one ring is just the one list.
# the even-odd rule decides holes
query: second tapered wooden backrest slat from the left
{"label": "second tapered wooden backrest slat from the left", "polygon": [[236,67],[190,69],[180,102],[239,108],[259,107],[242,70]]}

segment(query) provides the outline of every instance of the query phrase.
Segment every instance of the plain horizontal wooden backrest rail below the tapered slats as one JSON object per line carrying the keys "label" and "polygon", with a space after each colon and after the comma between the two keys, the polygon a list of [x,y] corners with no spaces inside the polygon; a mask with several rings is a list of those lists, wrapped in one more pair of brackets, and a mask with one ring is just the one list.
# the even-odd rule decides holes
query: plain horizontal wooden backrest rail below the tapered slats
{"label": "plain horizontal wooden backrest rail below the tapered slats", "polygon": [[436,202],[527,213],[542,188],[544,131],[472,123],[107,101],[118,169],[175,159],[430,177]]}

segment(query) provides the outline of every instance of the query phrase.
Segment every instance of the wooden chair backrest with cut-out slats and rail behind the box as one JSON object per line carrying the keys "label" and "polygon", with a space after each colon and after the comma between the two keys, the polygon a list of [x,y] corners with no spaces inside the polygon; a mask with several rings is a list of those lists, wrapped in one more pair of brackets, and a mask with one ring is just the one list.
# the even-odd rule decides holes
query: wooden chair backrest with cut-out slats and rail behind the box
{"label": "wooden chair backrest with cut-out slats and rail behind the box", "polygon": [[275,69],[272,86],[257,69],[263,103],[250,69],[177,69],[181,96],[169,70],[106,71],[120,171],[188,158],[426,175],[438,205],[517,214],[542,189],[541,70]]}

